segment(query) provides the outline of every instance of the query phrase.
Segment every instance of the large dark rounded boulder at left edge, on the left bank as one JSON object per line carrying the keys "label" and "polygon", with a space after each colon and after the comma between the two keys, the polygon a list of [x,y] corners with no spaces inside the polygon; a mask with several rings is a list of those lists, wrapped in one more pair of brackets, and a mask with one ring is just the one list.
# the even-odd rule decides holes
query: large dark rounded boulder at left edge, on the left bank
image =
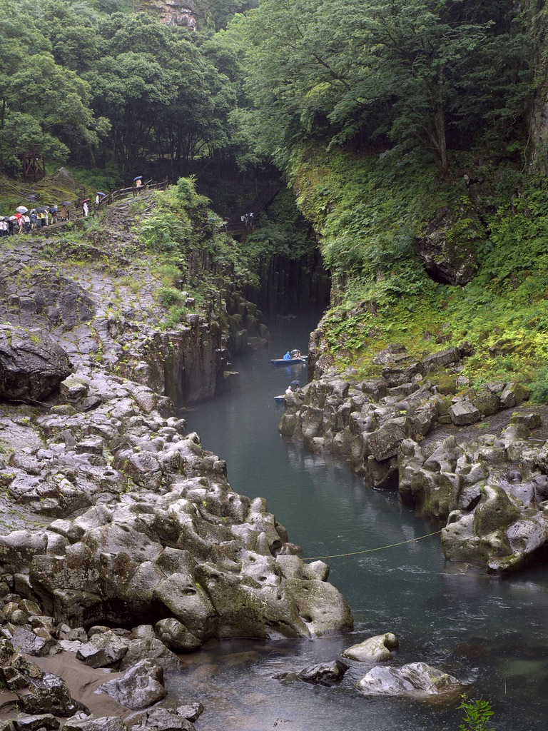
{"label": "large dark rounded boulder at left edge, on the left bank", "polygon": [[66,352],[44,330],[0,325],[0,400],[47,398],[71,368]]}

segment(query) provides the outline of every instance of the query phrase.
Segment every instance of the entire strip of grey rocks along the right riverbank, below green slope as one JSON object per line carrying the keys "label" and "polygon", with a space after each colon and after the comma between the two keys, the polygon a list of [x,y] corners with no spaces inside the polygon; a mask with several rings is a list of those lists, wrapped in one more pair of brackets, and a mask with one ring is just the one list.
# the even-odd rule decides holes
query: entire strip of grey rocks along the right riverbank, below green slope
{"label": "entire strip of grey rocks along the right riverbank, below green slope", "polygon": [[446,558],[501,575],[548,558],[548,412],[517,382],[471,387],[463,343],[413,360],[378,353],[381,375],[337,374],[311,347],[316,379],[286,395],[280,431],[346,455],[373,488],[396,489],[436,526]]}

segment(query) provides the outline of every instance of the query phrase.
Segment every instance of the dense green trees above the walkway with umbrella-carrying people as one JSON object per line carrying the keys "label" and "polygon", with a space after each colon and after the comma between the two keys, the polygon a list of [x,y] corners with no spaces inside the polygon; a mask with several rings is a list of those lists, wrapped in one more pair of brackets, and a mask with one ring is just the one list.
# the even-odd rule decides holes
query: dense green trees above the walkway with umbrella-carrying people
{"label": "dense green trees above the walkway with umbrella-carrying people", "polygon": [[56,162],[121,167],[151,157],[180,164],[229,145],[240,86],[229,50],[211,33],[117,12],[127,6],[0,0],[1,167],[12,170],[34,145]]}

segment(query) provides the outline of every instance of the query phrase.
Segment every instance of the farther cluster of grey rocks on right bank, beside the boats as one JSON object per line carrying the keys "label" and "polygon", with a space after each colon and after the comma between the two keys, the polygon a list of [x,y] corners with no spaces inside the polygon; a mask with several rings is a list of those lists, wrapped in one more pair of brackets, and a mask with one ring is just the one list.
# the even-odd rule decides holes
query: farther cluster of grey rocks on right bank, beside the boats
{"label": "farther cluster of grey rocks on right bank, beside the boats", "polygon": [[376,356],[384,366],[381,378],[357,380],[328,371],[294,393],[286,399],[281,433],[314,452],[348,455],[352,469],[373,487],[390,488],[397,487],[396,456],[405,439],[422,439],[444,423],[474,423],[528,398],[515,383],[492,384],[481,393],[458,387],[447,369],[458,370],[467,344],[420,362],[402,348]]}

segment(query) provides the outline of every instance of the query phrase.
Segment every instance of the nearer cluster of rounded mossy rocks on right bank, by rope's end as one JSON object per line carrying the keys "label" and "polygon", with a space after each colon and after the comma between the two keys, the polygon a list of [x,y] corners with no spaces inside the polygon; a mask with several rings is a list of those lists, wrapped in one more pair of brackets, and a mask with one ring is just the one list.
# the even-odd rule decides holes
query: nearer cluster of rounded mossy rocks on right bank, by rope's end
{"label": "nearer cluster of rounded mossy rocks on right bank, by rope's end", "polygon": [[482,562],[491,573],[547,558],[545,447],[527,441],[525,426],[538,422],[538,414],[512,417],[501,437],[460,443],[449,437],[427,454],[416,442],[402,444],[400,495],[446,522],[446,558]]}

